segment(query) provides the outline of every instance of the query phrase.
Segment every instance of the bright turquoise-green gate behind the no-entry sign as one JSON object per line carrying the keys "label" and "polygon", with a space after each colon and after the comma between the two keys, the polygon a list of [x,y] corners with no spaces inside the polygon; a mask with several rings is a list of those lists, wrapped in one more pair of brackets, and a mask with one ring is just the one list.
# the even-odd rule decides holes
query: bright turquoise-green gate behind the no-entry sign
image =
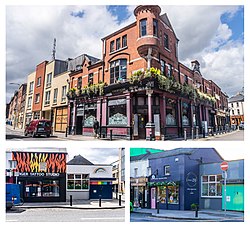
{"label": "bright turquoise-green gate behind the no-entry sign", "polygon": [[[224,210],[224,186],[222,187],[222,209]],[[227,205],[230,211],[244,211],[244,185],[227,184]]]}

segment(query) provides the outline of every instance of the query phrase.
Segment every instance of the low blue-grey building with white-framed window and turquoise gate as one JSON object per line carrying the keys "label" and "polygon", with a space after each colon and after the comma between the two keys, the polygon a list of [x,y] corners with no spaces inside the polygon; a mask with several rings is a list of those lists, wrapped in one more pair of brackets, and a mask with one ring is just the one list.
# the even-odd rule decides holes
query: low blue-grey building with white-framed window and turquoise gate
{"label": "low blue-grey building with white-framed window and turquoise gate", "polygon": [[[200,207],[224,209],[224,174],[220,163],[201,164],[200,181]],[[244,160],[228,161],[226,184],[226,209],[244,211]]]}

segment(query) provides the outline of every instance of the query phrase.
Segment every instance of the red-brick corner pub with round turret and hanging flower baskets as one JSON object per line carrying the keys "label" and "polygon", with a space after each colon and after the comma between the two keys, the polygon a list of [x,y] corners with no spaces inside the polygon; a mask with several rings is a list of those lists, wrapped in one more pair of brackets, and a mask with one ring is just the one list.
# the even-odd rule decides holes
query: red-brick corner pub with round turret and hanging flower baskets
{"label": "red-brick corner pub with round turret and hanging flower baskets", "polygon": [[[102,59],[69,60],[68,133],[101,137],[171,139],[225,130],[227,96],[178,60],[178,38],[157,5],[140,5],[136,21],[102,39]],[[111,132],[112,131],[112,132]]]}

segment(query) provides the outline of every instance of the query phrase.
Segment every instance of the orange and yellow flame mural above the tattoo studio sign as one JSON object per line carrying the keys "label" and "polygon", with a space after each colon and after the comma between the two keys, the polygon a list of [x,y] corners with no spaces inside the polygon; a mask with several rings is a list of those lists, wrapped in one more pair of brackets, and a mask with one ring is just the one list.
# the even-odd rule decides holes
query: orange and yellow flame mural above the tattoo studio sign
{"label": "orange and yellow flame mural above the tattoo studio sign", "polygon": [[13,152],[12,160],[17,161],[18,172],[65,173],[66,155],[59,153]]}

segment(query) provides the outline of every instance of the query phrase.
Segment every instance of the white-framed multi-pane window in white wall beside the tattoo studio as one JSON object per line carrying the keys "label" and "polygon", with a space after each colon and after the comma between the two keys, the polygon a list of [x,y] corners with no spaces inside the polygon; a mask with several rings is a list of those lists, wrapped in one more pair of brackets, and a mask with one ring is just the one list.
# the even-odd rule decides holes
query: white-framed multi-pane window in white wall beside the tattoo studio
{"label": "white-framed multi-pane window in white wall beside the tattoo studio", "polygon": [[67,190],[89,189],[89,174],[67,174]]}

